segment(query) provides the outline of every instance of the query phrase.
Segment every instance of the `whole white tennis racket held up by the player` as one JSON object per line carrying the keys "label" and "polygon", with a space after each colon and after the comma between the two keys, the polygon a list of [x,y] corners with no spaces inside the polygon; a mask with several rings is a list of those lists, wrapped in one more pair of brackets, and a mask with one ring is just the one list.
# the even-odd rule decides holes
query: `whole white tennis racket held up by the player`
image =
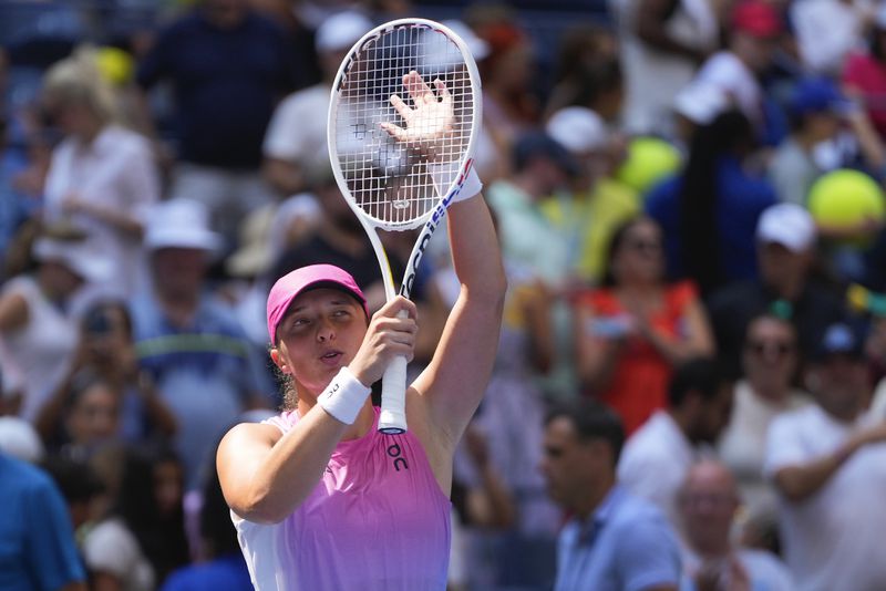
{"label": "whole white tennis racket held up by the player", "polygon": [[[372,242],[388,301],[396,294],[379,230],[422,227],[400,294],[471,170],[481,125],[480,75],[446,27],[403,19],[377,27],[344,58],[329,105],[329,158],[339,188]],[[406,360],[382,379],[379,431],[406,431]]]}

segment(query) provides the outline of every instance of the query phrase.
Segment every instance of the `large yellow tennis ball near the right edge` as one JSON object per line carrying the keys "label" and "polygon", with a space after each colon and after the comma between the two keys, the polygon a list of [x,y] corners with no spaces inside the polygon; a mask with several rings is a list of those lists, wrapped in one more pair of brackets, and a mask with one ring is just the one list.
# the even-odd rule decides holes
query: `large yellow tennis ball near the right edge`
{"label": "large yellow tennis ball near the right edge", "polygon": [[838,169],[820,177],[810,188],[806,207],[822,226],[856,226],[886,215],[883,189],[858,170]]}

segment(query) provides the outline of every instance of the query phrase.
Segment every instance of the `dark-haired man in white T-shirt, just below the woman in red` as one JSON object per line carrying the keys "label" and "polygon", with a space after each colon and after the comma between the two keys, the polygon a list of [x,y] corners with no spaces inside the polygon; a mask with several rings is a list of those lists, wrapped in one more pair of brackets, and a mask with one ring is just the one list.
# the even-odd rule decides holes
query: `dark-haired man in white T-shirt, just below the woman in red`
{"label": "dark-haired man in white T-shirt, just below the woman in red", "polygon": [[694,359],[677,366],[668,386],[668,409],[657,411],[625,445],[618,479],[679,523],[677,491],[692,464],[729,424],[731,377],[715,361]]}

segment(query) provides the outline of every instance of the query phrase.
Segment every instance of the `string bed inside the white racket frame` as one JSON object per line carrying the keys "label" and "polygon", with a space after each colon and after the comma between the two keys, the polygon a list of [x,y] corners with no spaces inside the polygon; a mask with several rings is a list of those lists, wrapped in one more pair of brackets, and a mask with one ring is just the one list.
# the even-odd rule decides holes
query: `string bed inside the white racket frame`
{"label": "string bed inside the white racket frame", "polygon": [[[404,86],[404,75],[413,71],[431,89],[433,98],[421,91],[413,96]],[[449,100],[436,89],[435,79],[445,84]],[[467,152],[474,105],[462,52],[442,31],[398,27],[365,42],[341,81],[333,124],[349,197],[385,225],[410,227],[426,216],[456,180]],[[422,128],[442,132],[431,139],[410,141],[413,129],[391,103],[393,94],[410,110],[426,106],[423,101],[437,103],[433,106],[451,102],[451,110],[433,108],[433,116],[422,118]],[[404,129],[408,139],[394,139],[381,127],[384,122]]]}

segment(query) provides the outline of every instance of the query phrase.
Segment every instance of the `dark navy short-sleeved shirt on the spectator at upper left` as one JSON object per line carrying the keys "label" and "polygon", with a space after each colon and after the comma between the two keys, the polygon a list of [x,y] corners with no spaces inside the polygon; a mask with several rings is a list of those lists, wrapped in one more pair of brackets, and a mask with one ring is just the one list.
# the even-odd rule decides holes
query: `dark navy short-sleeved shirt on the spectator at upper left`
{"label": "dark navy short-sleeved shirt on the spectator at upper left", "polygon": [[277,100],[295,84],[292,56],[284,30],[264,17],[219,29],[197,11],[159,33],[137,76],[144,87],[172,82],[182,159],[255,169]]}

